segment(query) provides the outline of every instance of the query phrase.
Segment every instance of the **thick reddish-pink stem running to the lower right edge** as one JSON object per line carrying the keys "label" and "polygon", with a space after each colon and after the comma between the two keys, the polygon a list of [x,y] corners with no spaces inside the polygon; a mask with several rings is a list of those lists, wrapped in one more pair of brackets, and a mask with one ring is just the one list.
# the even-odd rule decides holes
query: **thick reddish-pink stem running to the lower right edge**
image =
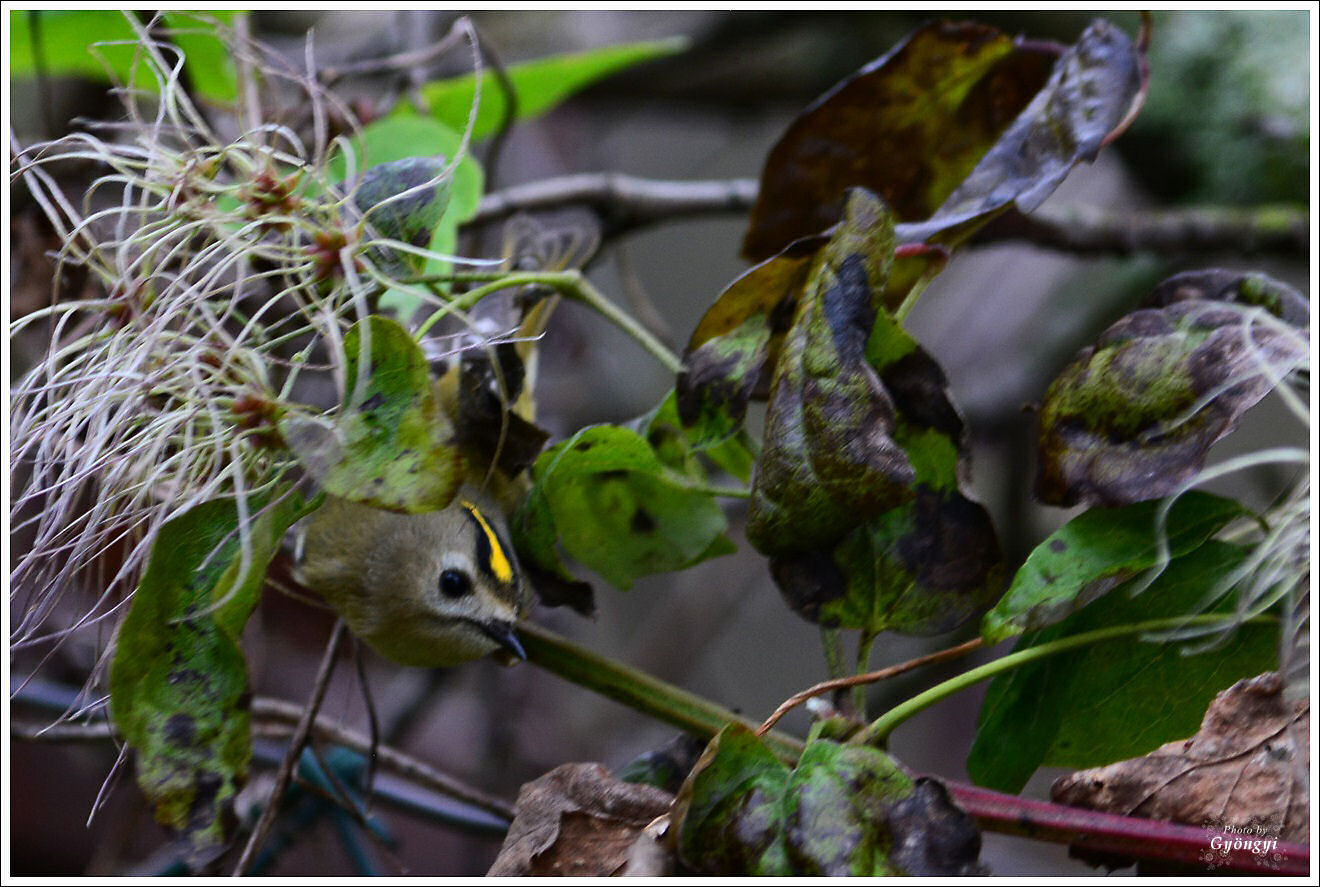
{"label": "thick reddish-pink stem running to the lower right edge", "polygon": [[1071,843],[1138,859],[1200,863],[1208,870],[1214,867],[1269,875],[1309,874],[1311,847],[1302,843],[1279,841],[1269,853],[1259,855],[1249,849],[1217,850],[1210,846],[1214,837],[1224,838],[1232,847],[1234,838],[1249,836],[1064,806],[1002,795],[965,783],[944,784],[958,806],[972,814],[986,832]]}

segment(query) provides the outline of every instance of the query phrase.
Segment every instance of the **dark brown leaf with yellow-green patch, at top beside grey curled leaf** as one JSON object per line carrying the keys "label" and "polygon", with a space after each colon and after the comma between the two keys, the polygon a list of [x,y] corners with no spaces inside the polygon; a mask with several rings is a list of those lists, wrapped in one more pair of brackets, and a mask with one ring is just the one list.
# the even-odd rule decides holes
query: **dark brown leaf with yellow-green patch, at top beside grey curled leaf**
{"label": "dark brown leaf with yellow-green patch, at top beside grey curled leaf", "polygon": [[1045,83],[1056,51],[972,22],[933,22],[797,116],[762,170],[743,255],[759,261],[840,216],[865,187],[916,222],[973,170]]}

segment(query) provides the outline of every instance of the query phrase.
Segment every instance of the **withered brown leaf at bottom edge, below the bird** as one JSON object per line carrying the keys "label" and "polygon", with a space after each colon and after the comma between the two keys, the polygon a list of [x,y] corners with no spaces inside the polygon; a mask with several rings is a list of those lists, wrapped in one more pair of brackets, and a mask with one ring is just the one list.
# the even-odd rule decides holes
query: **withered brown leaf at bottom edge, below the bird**
{"label": "withered brown leaf at bottom edge, below the bird", "polygon": [[487,875],[609,876],[636,865],[634,846],[673,795],[614,779],[602,764],[562,764],[523,785],[513,824]]}

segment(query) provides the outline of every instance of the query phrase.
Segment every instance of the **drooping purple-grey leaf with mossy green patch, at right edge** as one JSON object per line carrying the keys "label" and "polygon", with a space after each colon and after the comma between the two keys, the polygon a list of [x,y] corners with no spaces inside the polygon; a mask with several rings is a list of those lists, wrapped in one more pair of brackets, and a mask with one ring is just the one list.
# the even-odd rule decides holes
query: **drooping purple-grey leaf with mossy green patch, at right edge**
{"label": "drooping purple-grey leaf with mossy green patch, at right edge", "polygon": [[1045,392],[1036,495],[1111,506],[1185,488],[1308,352],[1304,331],[1259,309],[1191,298],[1133,312]]}

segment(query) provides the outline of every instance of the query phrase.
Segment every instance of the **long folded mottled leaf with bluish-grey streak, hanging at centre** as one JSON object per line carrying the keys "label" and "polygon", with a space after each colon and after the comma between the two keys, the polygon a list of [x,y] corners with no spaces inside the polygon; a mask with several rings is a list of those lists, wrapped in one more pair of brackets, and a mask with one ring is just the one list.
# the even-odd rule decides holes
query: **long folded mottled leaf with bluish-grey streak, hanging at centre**
{"label": "long folded mottled leaf with bluish-grey streak, hanging at centre", "polygon": [[763,554],[821,548],[911,498],[894,403],[866,359],[892,257],[888,213],[853,191],[775,364],[747,520]]}

